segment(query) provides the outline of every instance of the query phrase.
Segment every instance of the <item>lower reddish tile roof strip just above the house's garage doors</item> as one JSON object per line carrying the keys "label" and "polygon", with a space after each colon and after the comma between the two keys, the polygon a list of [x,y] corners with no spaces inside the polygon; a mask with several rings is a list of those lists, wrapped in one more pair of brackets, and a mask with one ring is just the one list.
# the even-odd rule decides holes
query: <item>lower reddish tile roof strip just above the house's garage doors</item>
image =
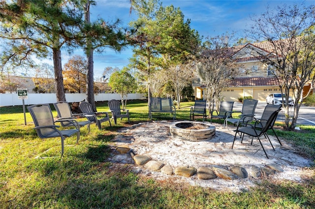
{"label": "lower reddish tile roof strip just above the house's garage doors", "polygon": [[228,86],[279,86],[279,82],[275,77],[240,77],[231,80]]}

